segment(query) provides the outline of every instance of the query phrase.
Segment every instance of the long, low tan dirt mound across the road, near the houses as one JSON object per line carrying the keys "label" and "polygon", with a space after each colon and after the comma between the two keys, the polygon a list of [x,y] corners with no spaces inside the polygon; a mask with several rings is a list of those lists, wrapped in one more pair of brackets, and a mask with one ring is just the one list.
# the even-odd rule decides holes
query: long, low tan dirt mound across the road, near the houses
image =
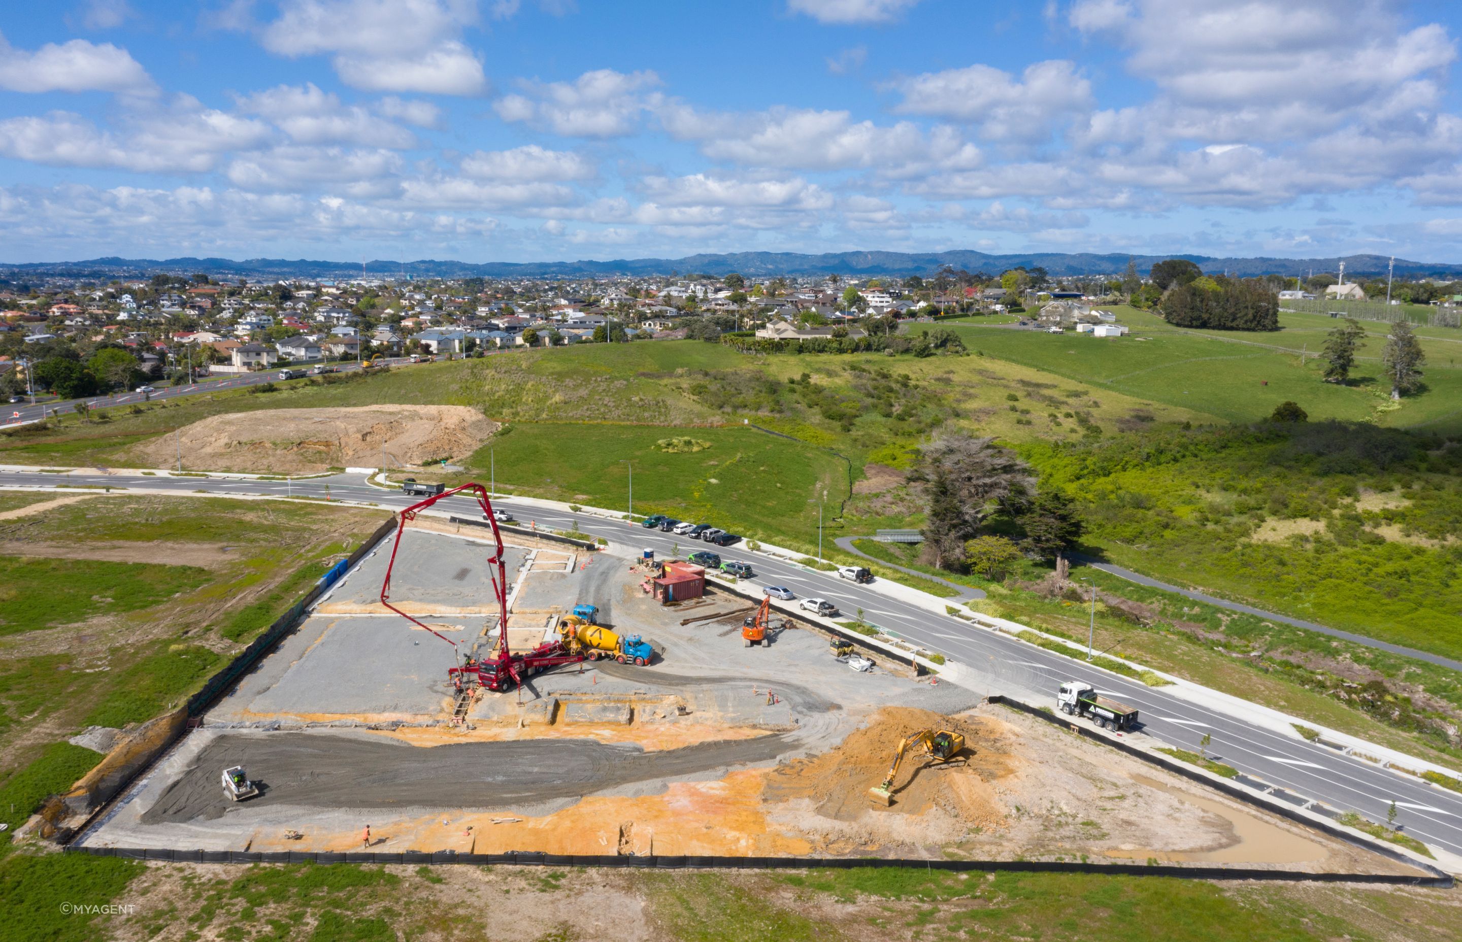
{"label": "long, low tan dirt mound across the road, near the houses", "polygon": [[361,405],[213,415],[132,449],[159,468],[313,474],[327,468],[415,465],[469,455],[497,423],[465,405]]}

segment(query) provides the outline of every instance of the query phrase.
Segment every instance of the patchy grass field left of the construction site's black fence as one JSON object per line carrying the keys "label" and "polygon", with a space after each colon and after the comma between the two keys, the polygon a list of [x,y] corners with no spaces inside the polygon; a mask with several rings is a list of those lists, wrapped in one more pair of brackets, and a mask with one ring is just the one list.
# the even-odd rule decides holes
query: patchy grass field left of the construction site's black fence
{"label": "patchy grass field left of the construction site's black fence", "polygon": [[[16,796],[79,777],[89,750],[66,737],[178,705],[383,516],[285,502],[98,496],[0,521],[0,540],[66,544],[77,557],[0,557],[0,810],[15,800],[23,821],[34,806]],[[228,549],[208,569],[86,559],[98,543],[108,551],[132,543],[146,559],[151,541]],[[0,853],[7,844],[0,840]]]}

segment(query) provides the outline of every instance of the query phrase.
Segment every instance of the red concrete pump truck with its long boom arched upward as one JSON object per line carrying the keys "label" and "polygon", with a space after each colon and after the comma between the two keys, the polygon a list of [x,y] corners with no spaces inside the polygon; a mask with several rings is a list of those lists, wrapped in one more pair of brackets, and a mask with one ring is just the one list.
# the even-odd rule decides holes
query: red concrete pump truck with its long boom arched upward
{"label": "red concrete pump truck with its long boom arched upward", "polygon": [[396,540],[390,547],[390,562],[386,563],[386,581],[380,587],[380,604],[386,606],[417,628],[428,630],[453,648],[458,648],[458,642],[436,632],[430,625],[423,623],[390,604],[390,570],[396,565],[396,551],[401,549],[401,534],[405,532],[406,524],[417,519],[418,513],[436,502],[462,491],[469,491],[474,497],[477,497],[477,502],[482,506],[484,519],[493,527],[493,541],[497,544],[497,549],[487,559],[488,573],[493,579],[493,595],[497,598],[497,651],[490,657],[481,658],[469,655],[461,657],[458,666],[447,670],[452,685],[459,693],[472,685],[484,686],[493,692],[506,692],[519,687],[523,683],[523,677],[531,677],[541,670],[547,670],[548,667],[556,667],[558,664],[577,664],[582,661],[583,654],[569,654],[569,649],[561,641],[545,641],[532,651],[523,654],[509,651],[507,565],[503,559],[506,547],[503,546],[503,534],[497,530],[497,518],[493,515],[493,503],[487,497],[487,489],[481,484],[474,483],[453,487],[452,490],[440,494],[433,494],[421,503],[414,503],[401,512],[401,522],[396,527]]}

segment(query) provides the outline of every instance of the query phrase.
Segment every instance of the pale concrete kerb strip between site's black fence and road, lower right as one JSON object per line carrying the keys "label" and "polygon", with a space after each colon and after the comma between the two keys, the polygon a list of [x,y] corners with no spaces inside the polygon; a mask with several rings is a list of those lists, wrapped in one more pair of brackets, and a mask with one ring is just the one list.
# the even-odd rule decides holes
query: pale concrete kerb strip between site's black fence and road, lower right
{"label": "pale concrete kerb strip between site's black fence and road, lower right", "polygon": [[[1155,752],[1156,746],[1152,746],[1152,745],[1148,745],[1148,743],[1139,743],[1139,742],[1129,742],[1127,739],[1121,737],[1120,734],[1108,733],[1105,730],[1099,730],[1099,728],[1095,728],[1095,727],[1089,727],[1089,726],[1076,723],[1075,720],[1070,720],[1070,718],[1067,718],[1064,715],[1060,715],[1060,714],[1057,714],[1054,711],[1050,711],[1048,708],[1041,708],[1041,706],[1035,706],[1035,705],[1026,704],[1025,701],[1022,701],[1019,698],[1004,696],[1004,695],[993,695],[988,699],[990,699],[991,704],[1001,704],[1001,705],[1010,706],[1013,709],[1019,709],[1020,712],[1025,712],[1025,714],[1029,714],[1029,715],[1037,717],[1039,720],[1044,720],[1044,721],[1047,721],[1047,723],[1050,723],[1053,726],[1070,730],[1070,731],[1076,733],[1077,736],[1080,736],[1083,739],[1089,739],[1089,740],[1102,743],[1105,746],[1111,746],[1113,749],[1118,749],[1118,750],[1121,750],[1121,752],[1124,752],[1124,753],[1127,753],[1127,755],[1130,755],[1133,758],[1142,759],[1143,762],[1161,766],[1161,768],[1167,769],[1168,772],[1173,772],[1174,775],[1181,775],[1183,778],[1189,778],[1189,780],[1196,781],[1199,784],[1208,785],[1209,788],[1213,788],[1216,791],[1222,791],[1224,794],[1227,794],[1227,796],[1230,796],[1232,799],[1238,799],[1240,802],[1244,802],[1247,805],[1253,805],[1254,807],[1260,807],[1260,809],[1263,809],[1266,812],[1270,812],[1273,815],[1279,815],[1281,818],[1288,818],[1289,821],[1294,821],[1297,824],[1303,824],[1303,825],[1306,825],[1308,828],[1314,828],[1316,831],[1322,831],[1325,834],[1329,834],[1330,837],[1336,837],[1336,838],[1339,838],[1339,840],[1342,840],[1342,841],[1345,841],[1348,844],[1352,844],[1355,847],[1361,847],[1364,850],[1377,853],[1377,854],[1380,854],[1383,857],[1387,857],[1390,860],[1398,860],[1401,863],[1405,863],[1405,864],[1423,869],[1423,870],[1431,873],[1436,881],[1444,881],[1444,882],[1433,882],[1433,883],[1428,883],[1428,885],[1433,885],[1433,886],[1447,886],[1447,888],[1452,886],[1452,881],[1453,881],[1452,875],[1447,873],[1446,870],[1440,869],[1437,866],[1437,862],[1428,860],[1428,859],[1423,857],[1421,854],[1418,854],[1418,853],[1415,853],[1415,851],[1412,851],[1412,850],[1409,850],[1406,847],[1401,847],[1398,844],[1390,844],[1387,841],[1382,841],[1380,838],[1371,837],[1370,834],[1366,834],[1364,831],[1357,831],[1355,828],[1351,828],[1348,825],[1342,825],[1338,821],[1332,821],[1332,819],[1329,819],[1329,818],[1326,818],[1323,815],[1319,815],[1319,813],[1310,810],[1308,807],[1300,807],[1300,806],[1291,805],[1288,802],[1284,802],[1281,799],[1273,797],[1272,794],[1269,794],[1266,791],[1262,791],[1259,788],[1253,788],[1251,785],[1247,785],[1244,783],[1231,781],[1228,778],[1224,778],[1222,775],[1216,775],[1216,774],[1213,774],[1213,772],[1211,772],[1211,771],[1208,771],[1205,768],[1200,768],[1197,765],[1190,765],[1190,764],[1183,762],[1180,759],[1170,758],[1167,755]],[[1152,739],[1152,742],[1154,743],[1161,743],[1162,740]],[[1164,743],[1164,746],[1167,746],[1167,743]],[[1256,780],[1256,781],[1259,781],[1259,780]],[[1273,785],[1270,785],[1270,787],[1273,787]],[[1447,859],[1452,857],[1452,854],[1447,854],[1446,851],[1442,851],[1442,853],[1443,853],[1443,857],[1447,857]],[[1458,860],[1456,863],[1462,863],[1462,860]]]}

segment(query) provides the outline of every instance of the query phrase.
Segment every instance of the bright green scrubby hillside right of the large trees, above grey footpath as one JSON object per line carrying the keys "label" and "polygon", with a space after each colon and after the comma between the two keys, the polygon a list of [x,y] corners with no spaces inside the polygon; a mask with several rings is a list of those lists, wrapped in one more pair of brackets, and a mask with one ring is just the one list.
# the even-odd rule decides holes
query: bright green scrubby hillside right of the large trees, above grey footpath
{"label": "bright green scrubby hillside right of the large trees, above grey footpath", "polygon": [[1114,562],[1462,658],[1462,453],[1367,424],[1022,449]]}

